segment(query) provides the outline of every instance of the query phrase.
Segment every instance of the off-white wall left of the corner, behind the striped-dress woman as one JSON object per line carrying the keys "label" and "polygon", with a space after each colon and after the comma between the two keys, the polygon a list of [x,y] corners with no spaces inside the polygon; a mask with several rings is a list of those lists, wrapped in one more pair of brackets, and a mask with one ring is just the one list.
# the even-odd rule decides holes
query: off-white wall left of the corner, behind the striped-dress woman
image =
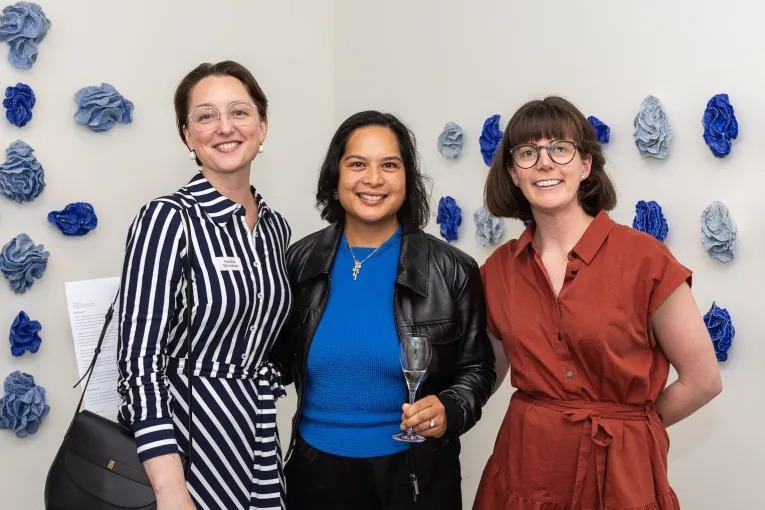
{"label": "off-white wall left of the corner, behind the striped-dress woman", "polygon": [[[8,2],[10,3],[10,2]],[[0,159],[21,138],[46,171],[47,187],[31,203],[0,197],[0,246],[20,232],[50,251],[48,270],[22,295],[0,279],[0,378],[14,370],[34,375],[51,406],[34,436],[0,431],[0,509],[38,510],[53,455],[77,404],[78,379],[64,282],[117,275],[125,235],[145,202],[185,184],[196,172],[175,129],[173,93],[201,62],[234,59],[247,66],[269,98],[265,153],[252,181],[283,212],[297,237],[320,225],[312,186],[333,129],[333,7],[288,0],[40,0],[52,22],[29,71],[7,61],[0,44],[0,85],[29,84],[37,95],[22,129],[0,121]],[[6,4],[3,4],[5,6]],[[135,103],[131,125],[92,133],[74,123],[74,93],[109,82]],[[1,110],[4,114],[5,111]],[[65,238],[46,215],[73,201],[91,202],[96,230]],[[43,325],[37,354],[14,358],[8,328],[19,310]],[[286,423],[289,412],[282,413]]]}

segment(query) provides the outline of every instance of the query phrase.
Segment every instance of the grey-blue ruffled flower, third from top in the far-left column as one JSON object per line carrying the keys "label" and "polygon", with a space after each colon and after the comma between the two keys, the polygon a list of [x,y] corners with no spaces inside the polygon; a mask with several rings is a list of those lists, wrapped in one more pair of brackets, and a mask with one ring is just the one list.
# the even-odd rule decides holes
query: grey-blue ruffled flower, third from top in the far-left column
{"label": "grey-blue ruffled flower, third from top in the far-left column", "polygon": [[32,154],[34,149],[16,140],[5,149],[0,165],[0,194],[16,202],[31,202],[45,189],[45,172]]}

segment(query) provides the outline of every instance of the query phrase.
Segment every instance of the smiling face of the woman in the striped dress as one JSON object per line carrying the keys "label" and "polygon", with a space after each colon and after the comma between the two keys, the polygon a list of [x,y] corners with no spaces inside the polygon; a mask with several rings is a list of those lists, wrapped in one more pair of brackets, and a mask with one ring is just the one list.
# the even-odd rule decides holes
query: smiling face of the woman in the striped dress
{"label": "smiling face of the woman in the striped dress", "polygon": [[203,171],[222,174],[249,172],[250,164],[266,138],[268,122],[259,114],[251,124],[232,125],[226,112],[237,102],[254,103],[244,84],[233,76],[208,76],[191,89],[189,113],[200,106],[212,107],[220,112],[218,125],[212,131],[200,131],[188,120],[183,129],[186,144],[197,153]]}

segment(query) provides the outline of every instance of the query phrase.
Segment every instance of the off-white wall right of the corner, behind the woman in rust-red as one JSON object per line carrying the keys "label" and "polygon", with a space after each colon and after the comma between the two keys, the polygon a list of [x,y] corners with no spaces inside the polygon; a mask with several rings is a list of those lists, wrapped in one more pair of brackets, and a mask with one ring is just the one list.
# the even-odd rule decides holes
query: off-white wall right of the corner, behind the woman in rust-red
{"label": "off-white wall right of the corner, behind the woman in rust-red", "polygon": [[[631,224],[640,199],[658,201],[670,224],[667,245],[694,273],[703,312],[728,308],[736,327],[725,390],[710,406],[670,428],[670,481],[684,508],[761,508],[765,440],[765,133],[763,44],[756,3],[508,2],[340,0],[335,8],[335,112],[340,122],[365,108],[400,114],[419,137],[424,168],[435,181],[433,203],[452,195],[463,207],[456,246],[483,261],[490,250],[473,240],[472,213],[482,203],[487,167],[478,146],[484,119],[512,113],[530,99],[563,95],[611,126],[608,170],[617,185],[613,217]],[[526,64],[521,64],[528,61]],[[726,92],[740,135],[732,154],[714,158],[702,139],[707,100]],[[641,160],[632,119],[641,100],[662,101],[673,128],[665,161]],[[436,150],[447,121],[465,129],[461,160]],[[700,246],[699,215],[725,202],[739,227],[736,259],[724,265]],[[508,238],[520,222],[508,221]],[[431,222],[428,230],[437,232]],[[586,318],[583,317],[583,320]],[[463,491],[472,502],[506,410],[507,382],[463,442]],[[756,392],[756,393],[755,393]]]}

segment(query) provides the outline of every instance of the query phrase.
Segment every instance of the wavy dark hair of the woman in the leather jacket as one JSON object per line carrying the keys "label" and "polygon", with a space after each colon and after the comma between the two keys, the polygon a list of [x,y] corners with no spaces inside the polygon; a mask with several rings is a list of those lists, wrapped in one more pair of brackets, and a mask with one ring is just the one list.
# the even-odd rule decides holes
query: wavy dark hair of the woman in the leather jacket
{"label": "wavy dark hair of the woman in the leather jacket", "polygon": [[427,191],[430,179],[420,171],[414,134],[395,115],[375,110],[359,112],[345,119],[329,142],[327,155],[319,171],[316,190],[316,208],[321,212],[321,218],[330,223],[345,220],[345,209],[340,201],[335,199],[337,183],[340,180],[340,159],[345,154],[348,139],[354,131],[367,126],[386,127],[396,135],[406,176],[406,199],[396,215],[404,228],[424,227],[430,218]]}

